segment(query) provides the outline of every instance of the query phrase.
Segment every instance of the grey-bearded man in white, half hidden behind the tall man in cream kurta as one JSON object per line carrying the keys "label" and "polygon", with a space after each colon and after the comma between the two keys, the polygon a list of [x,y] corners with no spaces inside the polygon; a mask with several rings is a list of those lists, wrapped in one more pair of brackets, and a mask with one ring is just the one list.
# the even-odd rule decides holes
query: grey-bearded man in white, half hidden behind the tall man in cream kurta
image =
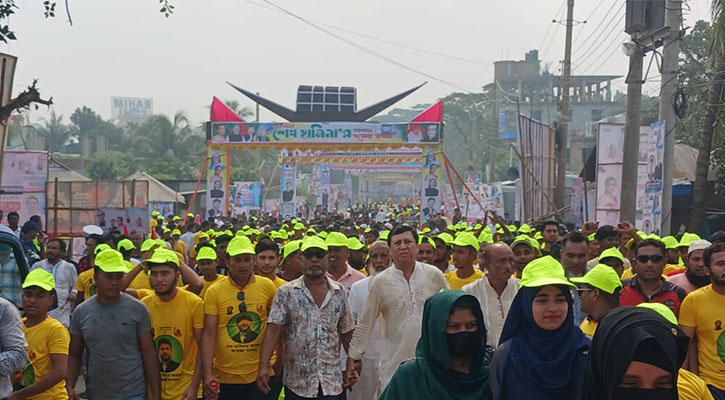
{"label": "grey-bearded man in white, half hidden behind the tall man in cream kurta", "polygon": [[[348,301],[352,310],[355,323],[362,316],[363,305],[370,292],[370,282],[380,272],[390,267],[390,247],[382,240],[376,240],[370,246],[370,258],[368,260],[367,278],[352,284]],[[380,322],[375,322],[373,333],[370,338],[370,345],[363,358],[363,366],[360,372],[360,381],[355,385],[355,390],[348,393],[348,400],[376,400],[378,389],[378,369],[383,351],[383,338],[380,334]]]}

